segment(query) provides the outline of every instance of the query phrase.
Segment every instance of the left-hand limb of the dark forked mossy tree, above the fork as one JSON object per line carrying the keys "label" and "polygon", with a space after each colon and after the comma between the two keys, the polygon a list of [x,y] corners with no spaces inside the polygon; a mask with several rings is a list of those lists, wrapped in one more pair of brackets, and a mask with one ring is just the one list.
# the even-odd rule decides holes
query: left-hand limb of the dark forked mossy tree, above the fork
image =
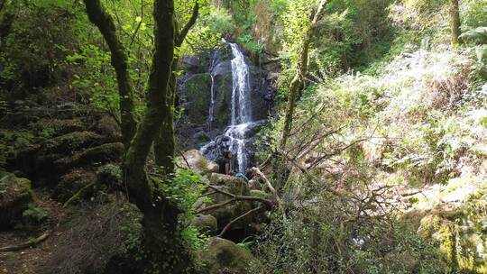
{"label": "left-hand limb of the dark forked mossy tree, above the fork", "polygon": [[100,0],[84,0],[84,2],[89,21],[95,24],[102,33],[111,52],[111,61],[112,66],[115,68],[118,95],[120,97],[122,138],[125,151],[127,151],[137,127],[133,114],[133,84],[128,72],[127,55],[124,45],[118,40],[114,20],[110,14],[106,13]]}

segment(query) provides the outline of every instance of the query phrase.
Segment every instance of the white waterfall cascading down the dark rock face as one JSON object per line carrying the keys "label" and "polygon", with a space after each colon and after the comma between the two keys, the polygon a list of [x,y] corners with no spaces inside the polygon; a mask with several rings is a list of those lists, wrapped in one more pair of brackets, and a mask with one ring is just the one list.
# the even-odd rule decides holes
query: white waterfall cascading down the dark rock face
{"label": "white waterfall cascading down the dark rock face", "polygon": [[[236,168],[239,172],[244,172],[249,165],[248,151],[246,148],[246,134],[251,131],[256,125],[262,123],[253,122],[252,117],[252,107],[251,107],[251,91],[252,87],[250,84],[250,72],[249,66],[245,63],[245,58],[242,51],[234,43],[229,43],[232,49],[233,59],[232,64],[232,102],[231,102],[231,124],[226,127],[223,136],[217,137],[220,142],[223,140],[224,147],[227,150],[232,151],[236,156],[236,162],[234,162],[234,169]],[[208,122],[211,126],[211,122],[215,119],[214,117],[214,78],[211,75],[212,85],[210,90],[210,109]],[[203,146],[200,151],[208,156],[212,153],[212,149],[215,150],[216,141],[209,142],[207,145]],[[216,150],[218,151],[218,150]],[[210,157],[215,159],[214,157]]]}

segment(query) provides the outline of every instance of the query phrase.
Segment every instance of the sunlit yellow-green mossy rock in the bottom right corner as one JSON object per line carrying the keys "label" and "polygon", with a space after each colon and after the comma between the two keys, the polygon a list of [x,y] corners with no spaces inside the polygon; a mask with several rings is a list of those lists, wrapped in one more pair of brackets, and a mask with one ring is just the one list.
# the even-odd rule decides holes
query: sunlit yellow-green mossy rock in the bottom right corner
{"label": "sunlit yellow-green mossy rock in the bottom right corner", "polygon": [[[487,208],[487,188],[475,180],[452,179],[450,188],[436,193],[437,199],[426,191],[428,203],[421,201],[404,218],[411,230],[439,245],[446,273],[487,273],[487,240],[484,215]],[[475,186],[475,187],[473,187]]]}

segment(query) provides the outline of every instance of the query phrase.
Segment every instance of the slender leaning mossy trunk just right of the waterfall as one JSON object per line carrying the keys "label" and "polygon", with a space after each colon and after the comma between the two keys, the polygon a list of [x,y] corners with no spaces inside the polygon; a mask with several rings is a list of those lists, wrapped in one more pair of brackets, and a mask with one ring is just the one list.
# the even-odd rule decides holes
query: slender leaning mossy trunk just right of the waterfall
{"label": "slender leaning mossy trunk just right of the waterfall", "polygon": [[284,128],[282,129],[282,135],[280,138],[280,149],[284,150],[286,143],[288,142],[290,129],[292,126],[292,116],[294,114],[294,108],[296,107],[296,101],[299,99],[299,88],[304,85],[306,73],[308,71],[308,50],[311,39],[317,28],[317,22],[321,16],[323,9],[325,8],[326,0],[321,0],[317,7],[317,12],[313,16],[311,25],[308,32],[305,33],[303,42],[301,44],[301,51],[299,53],[299,60],[296,68],[296,75],[292,78],[289,84],[288,105],[286,109],[286,116],[284,117]]}

